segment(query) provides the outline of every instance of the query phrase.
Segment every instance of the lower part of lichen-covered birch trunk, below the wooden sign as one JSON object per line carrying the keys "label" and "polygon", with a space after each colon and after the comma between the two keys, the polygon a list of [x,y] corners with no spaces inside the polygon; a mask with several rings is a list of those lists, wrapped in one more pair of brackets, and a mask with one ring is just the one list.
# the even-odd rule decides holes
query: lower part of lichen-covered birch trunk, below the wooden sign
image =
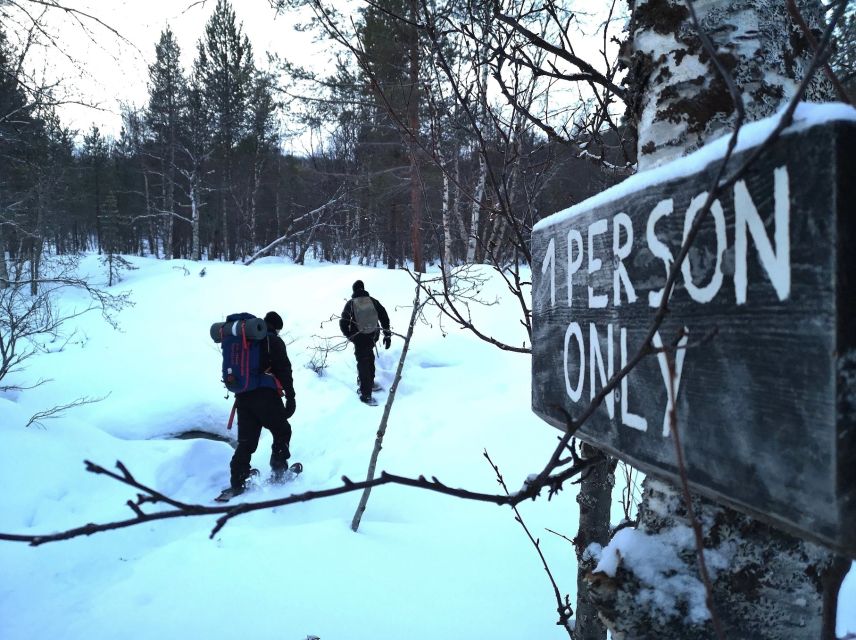
{"label": "lower part of lichen-covered birch trunk, below the wooden sign", "polygon": [[[833,556],[699,496],[693,508],[703,525],[714,608],[725,637],[822,638],[823,577]],[[715,638],[679,492],[649,477],[638,528],[626,534],[644,544],[646,553],[674,561],[662,572],[634,571],[638,558],[628,555],[618,560],[614,577],[590,577],[591,597],[613,638]]]}

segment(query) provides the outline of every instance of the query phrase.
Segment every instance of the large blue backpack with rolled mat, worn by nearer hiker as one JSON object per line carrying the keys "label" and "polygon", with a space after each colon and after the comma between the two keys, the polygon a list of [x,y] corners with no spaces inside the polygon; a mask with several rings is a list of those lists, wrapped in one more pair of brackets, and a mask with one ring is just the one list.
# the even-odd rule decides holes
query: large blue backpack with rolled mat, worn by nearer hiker
{"label": "large blue backpack with rolled mat, worn by nearer hiker", "polygon": [[223,384],[232,393],[244,393],[259,387],[277,388],[273,376],[261,368],[262,345],[267,325],[250,313],[233,313],[226,322],[211,325],[211,338],[223,352]]}

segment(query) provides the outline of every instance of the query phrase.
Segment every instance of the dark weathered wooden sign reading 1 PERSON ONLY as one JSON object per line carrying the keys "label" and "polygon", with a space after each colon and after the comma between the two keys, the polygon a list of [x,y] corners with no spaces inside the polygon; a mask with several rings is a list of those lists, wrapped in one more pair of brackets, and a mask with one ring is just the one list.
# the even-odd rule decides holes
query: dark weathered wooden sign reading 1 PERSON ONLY
{"label": "dark weathered wooden sign reading 1 PERSON ONLY", "polygon": [[[642,346],[716,166],[536,225],[532,407],[549,423]],[[856,122],[782,136],[714,202],[654,338],[676,343],[674,376],[644,358],[578,435],[677,481],[674,403],[695,491],[856,557]]]}

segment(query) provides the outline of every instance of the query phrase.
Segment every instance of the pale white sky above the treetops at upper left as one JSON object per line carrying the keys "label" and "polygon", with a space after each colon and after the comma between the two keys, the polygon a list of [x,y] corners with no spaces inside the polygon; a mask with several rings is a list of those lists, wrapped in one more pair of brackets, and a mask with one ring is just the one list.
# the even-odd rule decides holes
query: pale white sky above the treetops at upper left
{"label": "pale white sky above the treetops at upper left", "polygon": [[[38,14],[38,4],[18,2]],[[48,81],[61,78],[58,95],[99,106],[63,105],[59,108],[63,124],[86,131],[94,122],[115,136],[121,126],[120,104],[144,106],[147,101],[148,65],[154,60],[161,31],[167,24],[172,28],[184,70],[189,71],[216,0],[64,0],[61,4],[96,17],[128,42],[93,20],[81,17],[78,22],[54,9],[45,20],[47,32],[60,46],[34,49],[30,69]],[[312,34],[294,30],[294,16],[277,16],[267,0],[233,0],[232,6],[253,46],[257,66],[266,66],[268,51],[298,64],[323,64],[329,57],[313,44]],[[4,26],[10,31],[14,24],[10,20]]]}

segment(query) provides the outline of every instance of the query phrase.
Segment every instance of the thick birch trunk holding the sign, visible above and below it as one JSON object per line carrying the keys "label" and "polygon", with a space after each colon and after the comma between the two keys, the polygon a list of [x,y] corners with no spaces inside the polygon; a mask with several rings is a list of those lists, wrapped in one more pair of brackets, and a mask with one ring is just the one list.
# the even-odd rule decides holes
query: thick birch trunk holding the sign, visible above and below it
{"label": "thick birch trunk holding the sign, visible above and below it", "polygon": [[[799,4],[812,27],[822,24],[819,2]],[[775,113],[794,95],[812,55],[791,24],[785,2],[698,0],[693,6],[743,95],[747,121]],[[640,170],[680,157],[731,130],[734,105],[728,87],[704,51],[683,2],[638,1],[630,38],[628,108],[638,126]],[[826,81],[818,75],[805,99],[828,95]],[[715,637],[711,619],[699,614],[709,610],[703,598],[701,605],[697,599],[701,582],[695,543],[686,535],[683,543],[676,542],[690,524],[682,494],[651,476],[643,486],[637,531],[651,543],[652,554],[679,559],[673,574],[685,577],[686,587],[670,595],[673,611],[658,608],[645,594],[658,593],[663,585],[652,584],[650,577],[637,575],[619,561],[614,579],[600,574],[589,581],[601,617],[615,637]],[[711,580],[713,615],[725,637],[833,637],[828,620],[824,627],[823,613],[824,583],[829,582],[825,577],[835,565],[831,553],[698,496],[693,497],[693,509],[702,525],[705,556],[724,564],[714,567]],[[834,612],[829,615],[834,629]]]}

